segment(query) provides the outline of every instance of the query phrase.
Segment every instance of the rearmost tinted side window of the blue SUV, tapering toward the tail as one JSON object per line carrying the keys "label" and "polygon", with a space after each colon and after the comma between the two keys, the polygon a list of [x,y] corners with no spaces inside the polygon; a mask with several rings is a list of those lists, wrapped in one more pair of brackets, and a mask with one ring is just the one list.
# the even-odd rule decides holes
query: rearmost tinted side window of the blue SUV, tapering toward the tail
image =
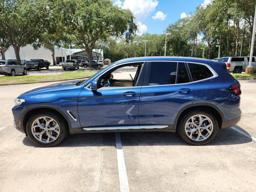
{"label": "rearmost tinted side window of the blue SUV, tapering toward the tail", "polygon": [[193,81],[203,80],[213,76],[210,69],[202,64],[188,63]]}

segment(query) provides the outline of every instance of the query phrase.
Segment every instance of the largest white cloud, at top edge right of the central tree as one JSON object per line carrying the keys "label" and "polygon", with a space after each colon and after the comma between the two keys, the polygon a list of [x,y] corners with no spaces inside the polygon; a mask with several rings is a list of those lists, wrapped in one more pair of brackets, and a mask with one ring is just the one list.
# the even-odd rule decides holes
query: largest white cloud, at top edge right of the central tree
{"label": "largest white cloud, at top edge right of the central tree", "polygon": [[158,0],[115,0],[114,5],[132,11],[136,20],[145,20],[158,6]]}

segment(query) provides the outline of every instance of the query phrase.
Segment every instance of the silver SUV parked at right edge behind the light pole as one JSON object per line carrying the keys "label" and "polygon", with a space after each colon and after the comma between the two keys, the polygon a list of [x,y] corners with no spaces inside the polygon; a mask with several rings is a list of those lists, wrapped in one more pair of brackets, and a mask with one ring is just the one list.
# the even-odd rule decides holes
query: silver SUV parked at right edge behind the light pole
{"label": "silver SUV parked at right edge behind the light pole", "polygon": [[[224,62],[227,65],[227,71],[233,73],[245,72],[245,68],[249,65],[250,57],[222,57],[218,62]],[[256,59],[252,57],[252,67],[254,67],[254,72],[256,70]]]}

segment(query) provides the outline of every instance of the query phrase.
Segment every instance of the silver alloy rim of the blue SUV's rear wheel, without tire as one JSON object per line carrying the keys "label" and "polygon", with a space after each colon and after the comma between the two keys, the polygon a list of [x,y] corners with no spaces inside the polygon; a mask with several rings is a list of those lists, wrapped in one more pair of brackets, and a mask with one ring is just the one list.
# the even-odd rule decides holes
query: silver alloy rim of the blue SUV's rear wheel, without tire
{"label": "silver alloy rim of the blue SUV's rear wheel, without tire", "polygon": [[212,120],[206,115],[193,115],[188,118],[185,124],[186,135],[194,141],[204,141],[208,139],[211,136],[212,131]]}

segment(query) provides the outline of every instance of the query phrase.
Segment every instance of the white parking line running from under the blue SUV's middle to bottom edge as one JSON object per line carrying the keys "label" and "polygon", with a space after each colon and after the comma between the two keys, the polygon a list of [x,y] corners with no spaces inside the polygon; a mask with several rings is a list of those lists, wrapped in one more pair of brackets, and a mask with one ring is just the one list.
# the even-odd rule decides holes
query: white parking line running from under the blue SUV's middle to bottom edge
{"label": "white parking line running from under the blue SUV's middle to bottom edge", "polygon": [[118,164],[120,192],[130,192],[128,178],[126,174],[126,167],[124,162],[124,153],[120,133],[116,132],[116,156]]}

